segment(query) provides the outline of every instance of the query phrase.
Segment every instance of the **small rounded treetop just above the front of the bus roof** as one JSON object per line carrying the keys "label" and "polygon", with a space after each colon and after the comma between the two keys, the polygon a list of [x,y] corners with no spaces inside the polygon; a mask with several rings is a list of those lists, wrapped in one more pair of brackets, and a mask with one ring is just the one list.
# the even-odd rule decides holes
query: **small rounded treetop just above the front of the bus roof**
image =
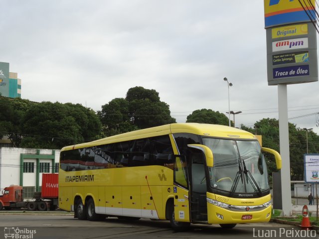
{"label": "small rounded treetop just above the front of the bus roof", "polygon": [[224,114],[219,113],[218,111],[212,111],[210,109],[193,111],[192,114],[187,116],[186,122],[229,125],[229,120]]}

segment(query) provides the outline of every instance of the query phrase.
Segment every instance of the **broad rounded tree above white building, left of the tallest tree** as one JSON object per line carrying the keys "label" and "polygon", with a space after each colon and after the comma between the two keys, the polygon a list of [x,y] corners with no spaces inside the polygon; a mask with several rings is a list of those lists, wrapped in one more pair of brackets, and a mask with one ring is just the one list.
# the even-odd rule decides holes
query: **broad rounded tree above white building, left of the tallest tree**
{"label": "broad rounded tree above white building, left of the tallest tree", "polygon": [[96,139],[101,122],[94,111],[79,104],[42,102],[26,111],[23,130],[23,147],[53,149]]}

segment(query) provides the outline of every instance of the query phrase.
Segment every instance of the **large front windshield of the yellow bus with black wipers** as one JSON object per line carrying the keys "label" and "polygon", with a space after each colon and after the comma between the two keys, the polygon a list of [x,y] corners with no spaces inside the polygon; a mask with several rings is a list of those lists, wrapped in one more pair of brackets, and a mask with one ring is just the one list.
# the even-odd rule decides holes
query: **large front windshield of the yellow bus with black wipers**
{"label": "large front windshield of the yellow bus with black wipers", "polygon": [[268,190],[268,172],[258,141],[202,138],[213,152],[209,167],[210,186],[233,193]]}

